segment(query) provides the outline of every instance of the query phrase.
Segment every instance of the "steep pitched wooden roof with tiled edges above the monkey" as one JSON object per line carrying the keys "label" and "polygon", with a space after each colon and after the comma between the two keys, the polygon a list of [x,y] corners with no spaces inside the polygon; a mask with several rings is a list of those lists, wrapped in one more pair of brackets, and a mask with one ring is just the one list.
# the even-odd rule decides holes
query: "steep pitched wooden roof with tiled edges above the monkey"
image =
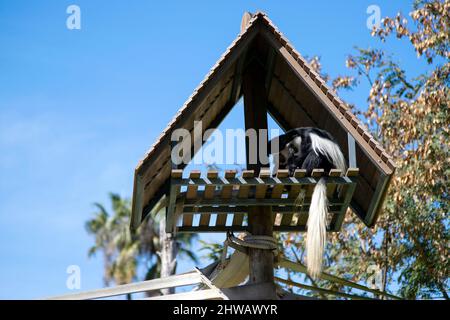
{"label": "steep pitched wooden roof with tiled edges above the monkey", "polygon": [[351,207],[366,225],[375,223],[395,171],[391,157],[267,15],[258,12],[253,16],[244,15],[241,33],[137,165],[132,229],[168,193],[172,131],[184,128],[192,133],[194,121],[202,121],[202,134],[216,128],[241,97],[241,76],[253,59],[265,70],[268,111],[282,129],[305,126],[326,129],[336,138],[344,154],[348,154],[347,135],[354,138],[360,176]]}

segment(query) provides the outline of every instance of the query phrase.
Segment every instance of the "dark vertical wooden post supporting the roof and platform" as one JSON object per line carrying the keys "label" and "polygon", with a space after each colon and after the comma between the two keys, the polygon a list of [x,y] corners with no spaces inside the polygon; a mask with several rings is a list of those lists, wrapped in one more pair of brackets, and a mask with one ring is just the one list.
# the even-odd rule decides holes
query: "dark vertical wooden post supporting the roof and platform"
{"label": "dark vertical wooden post supporting the roof and platform", "polygon": [[[253,61],[242,78],[242,91],[244,94],[244,114],[245,128],[255,129],[259,133],[259,129],[267,130],[267,106],[268,96],[264,86],[265,72],[262,66]],[[254,170],[255,176],[259,174],[263,164],[259,159],[259,146],[256,147],[257,163],[249,163],[249,154],[251,148],[249,139],[246,139],[247,152],[247,169]],[[268,166],[266,164],[265,166]],[[249,207],[248,226],[252,235],[273,235],[273,219],[272,208],[263,206]],[[249,267],[251,284],[257,283],[274,283],[273,277],[273,253],[270,250],[249,249]],[[267,292],[267,299],[274,299],[275,286],[272,292]]]}

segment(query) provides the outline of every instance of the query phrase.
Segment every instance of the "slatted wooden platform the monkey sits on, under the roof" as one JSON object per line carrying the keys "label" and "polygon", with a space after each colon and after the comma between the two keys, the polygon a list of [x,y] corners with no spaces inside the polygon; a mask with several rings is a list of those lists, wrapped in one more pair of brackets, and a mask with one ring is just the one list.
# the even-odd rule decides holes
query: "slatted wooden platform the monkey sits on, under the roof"
{"label": "slatted wooden platform the monkey sits on, under the roof", "polygon": [[[321,177],[327,181],[329,201],[329,231],[338,231],[352,199],[358,176],[357,168],[350,168],[344,176],[340,170],[324,175],[316,169],[311,177],[304,170],[296,170],[289,177],[287,170],[279,170],[276,177],[268,169],[259,176],[252,170],[200,171],[182,177],[182,170],[174,169],[171,175],[167,210],[167,231],[225,232],[247,230],[249,206],[271,206],[274,213],[274,231],[304,231],[314,187]],[[296,199],[303,194],[299,205]],[[297,200],[298,201],[298,200]]]}

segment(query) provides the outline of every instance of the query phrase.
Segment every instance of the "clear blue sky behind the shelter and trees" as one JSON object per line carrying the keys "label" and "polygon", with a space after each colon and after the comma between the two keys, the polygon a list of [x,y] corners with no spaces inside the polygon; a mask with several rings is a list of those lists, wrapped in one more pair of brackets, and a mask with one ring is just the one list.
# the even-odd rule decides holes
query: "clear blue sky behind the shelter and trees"
{"label": "clear blue sky behind the shelter and trees", "polygon": [[[102,286],[100,258],[87,258],[92,203],[110,191],[131,196],[139,159],[244,11],[265,11],[331,76],[346,73],[355,45],[385,48],[417,74],[425,63],[405,42],[380,45],[366,28],[370,4],[386,16],[410,2],[0,0],[0,298],[67,293],[73,264],[83,290]],[[71,4],[81,30],[66,28]],[[361,86],[343,98],[363,109],[367,95]],[[222,126],[242,126],[239,110]]]}

